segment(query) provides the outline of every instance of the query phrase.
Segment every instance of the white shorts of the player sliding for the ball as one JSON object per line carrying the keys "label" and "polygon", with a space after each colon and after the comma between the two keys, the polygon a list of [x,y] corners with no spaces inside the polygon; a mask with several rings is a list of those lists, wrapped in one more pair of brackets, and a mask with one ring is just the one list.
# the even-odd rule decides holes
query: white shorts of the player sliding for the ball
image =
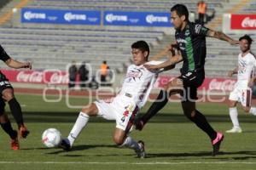
{"label": "white shorts of the player sliding for the ball", "polygon": [[99,110],[98,115],[107,120],[115,120],[116,127],[128,133],[137,115],[138,107],[133,100],[125,96],[94,102]]}

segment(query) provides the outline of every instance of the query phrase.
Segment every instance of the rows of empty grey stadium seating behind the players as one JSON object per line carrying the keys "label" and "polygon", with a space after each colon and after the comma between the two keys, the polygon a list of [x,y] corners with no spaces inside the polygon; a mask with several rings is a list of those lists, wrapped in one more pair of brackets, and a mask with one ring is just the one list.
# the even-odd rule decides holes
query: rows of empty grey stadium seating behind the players
{"label": "rows of empty grey stadium seating behind the players", "polygon": [[[229,5],[228,1],[206,1],[208,8],[219,9]],[[27,8],[61,9],[114,9],[133,11],[169,11],[174,0],[33,0]],[[179,3],[188,5],[195,11],[197,1],[183,0]],[[256,3],[250,3],[241,11],[253,10]],[[218,12],[217,12],[218,14]],[[151,56],[160,51],[173,36],[165,31],[122,26],[56,26],[20,24],[20,15],[16,14],[11,28],[0,28],[0,43],[15,59],[31,60],[34,68],[65,70],[67,64],[76,60],[86,61],[98,69],[102,60],[107,60],[114,70],[124,71],[124,65],[131,58],[131,43],[143,39],[151,45]],[[236,39],[241,35],[230,35]],[[252,35],[256,39],[256,34]],[[255,45],[253,45],[255,48]],[[235,67],[239,48],[207,38],[207,77],[225,77],[226,72]],[[178,68],[171,71],[178,74]],[[167,72],[166,74],[170,74]]]}

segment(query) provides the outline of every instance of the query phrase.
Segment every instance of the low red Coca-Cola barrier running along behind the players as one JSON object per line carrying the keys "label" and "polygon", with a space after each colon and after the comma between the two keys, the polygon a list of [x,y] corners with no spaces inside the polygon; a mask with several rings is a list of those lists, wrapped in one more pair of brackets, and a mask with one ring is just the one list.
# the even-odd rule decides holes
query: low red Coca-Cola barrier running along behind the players
{"label": "low red Coca-Cola barrier running along behind the players", "polygon": [[[67,85],[67,71],[45,70],[45,71],[16,71],[2,70],[10,82],[23,82],[32,84],[55,84]],[[154,88],[163,88],[167,82],[175,77],[160,76],[154,84]],[[236,79],[230,78],[209,78],[207,77],[199,90],[230,92],[236,83]]]}

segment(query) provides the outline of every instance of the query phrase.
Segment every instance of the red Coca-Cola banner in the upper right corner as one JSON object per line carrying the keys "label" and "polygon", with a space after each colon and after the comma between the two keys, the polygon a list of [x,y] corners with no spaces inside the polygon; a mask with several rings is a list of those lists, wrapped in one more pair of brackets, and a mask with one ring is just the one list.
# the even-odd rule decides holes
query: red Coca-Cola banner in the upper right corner
{"label": "red Coca-Cola banner in the upper right corner", "polygon": [[256,30],[256,14],[231,14],[231,30]]}

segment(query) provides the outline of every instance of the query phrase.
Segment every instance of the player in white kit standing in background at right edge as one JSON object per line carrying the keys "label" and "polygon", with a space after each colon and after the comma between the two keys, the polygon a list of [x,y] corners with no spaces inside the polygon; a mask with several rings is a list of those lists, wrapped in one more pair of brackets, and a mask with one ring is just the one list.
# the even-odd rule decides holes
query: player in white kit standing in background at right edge
{"label": "player in white kit standing in background at right edge", "polygon": [[236,105],[241,103],[244,111],[256,116],[256,107],[251,106],[252,88],[256,80],[254,76],[254,66],[256,66],[255,56],[251,53],[252,38],[245,35],[239,38],[241,54],[238,55],[238,67],[234,71],[229,71],[229,76],[237,74],[237,82],[234,90],[230,93],[230,118],[233,127],[226,133],[241,133],[238,122]]}

